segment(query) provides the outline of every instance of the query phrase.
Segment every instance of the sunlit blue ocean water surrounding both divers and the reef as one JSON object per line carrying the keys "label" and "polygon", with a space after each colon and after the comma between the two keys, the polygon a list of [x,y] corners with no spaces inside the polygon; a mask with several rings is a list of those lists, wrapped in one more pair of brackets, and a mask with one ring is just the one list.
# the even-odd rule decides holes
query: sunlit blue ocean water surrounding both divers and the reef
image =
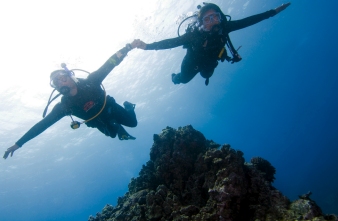
{"label": "sunlit blue ocean water surrounding both divers and the reef", "polygon": [[[22,2],[22,11],[0,7],[7,15],[0,19],[1,48],[9,49],[0,52],[9,79],[0,89],[3,151],[41,119],[49,73],[60,63],[94,71],[134,38],[150,43],[176,37],[178,17],[201,4],[63,3]],[[284,1],[214,3],[236,20]],[[0,219],[87,220],[125,194],[149,160],[153,134],[188,124],[243,151],[247,161],[267,159],[277,170],[274,186],[291,200],[311,191],[325,213],[338,214],[337,6],[334,0],[299,0],[231,33],[243,60],[219,64],[209,86],[200,76],[172,84],[170,75],[180,71],[185,54],[181,47],[131,51],[104,85],[118,103],[136,103],[139,125],[126,129],[137,139],[121,142],[85,127],[73,131],[70,119],[62,119],[0,161]]]}

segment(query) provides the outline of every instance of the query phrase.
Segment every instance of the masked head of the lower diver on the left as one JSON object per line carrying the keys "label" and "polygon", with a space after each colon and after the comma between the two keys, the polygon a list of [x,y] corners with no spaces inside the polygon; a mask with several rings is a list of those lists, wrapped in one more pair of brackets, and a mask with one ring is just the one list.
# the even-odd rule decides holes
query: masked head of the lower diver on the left
{"label": "masked head of the lower diver on the left", "polygon": [[69,95],[76,88],[78,80],[66,70],[56,70],[50,74],[50,86],[63,95]]}

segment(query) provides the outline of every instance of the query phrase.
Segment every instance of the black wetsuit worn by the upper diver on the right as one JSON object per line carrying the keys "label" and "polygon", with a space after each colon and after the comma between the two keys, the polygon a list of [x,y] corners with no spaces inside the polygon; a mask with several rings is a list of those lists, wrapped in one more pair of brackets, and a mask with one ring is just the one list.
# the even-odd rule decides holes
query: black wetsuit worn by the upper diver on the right
{"label": "black wetsuit worn by the upper diver on the right", "polygon": [[222,21],[217,32],[204,32],[195,29],[180,37],[147,44],[145,50],[162,50],[183,45],[184,48],[187,48],[187,54],[182,61],[181,73],[174,75],[173,82],[175,84],[188,83],[198,72],[208,80],[217,67],[218,60],[224,61],[219,58],[219,54],[224,48],[226,37],[230,32],[254,25],[274,15],[276,15],[276,11],[270,10],[241,20]]}

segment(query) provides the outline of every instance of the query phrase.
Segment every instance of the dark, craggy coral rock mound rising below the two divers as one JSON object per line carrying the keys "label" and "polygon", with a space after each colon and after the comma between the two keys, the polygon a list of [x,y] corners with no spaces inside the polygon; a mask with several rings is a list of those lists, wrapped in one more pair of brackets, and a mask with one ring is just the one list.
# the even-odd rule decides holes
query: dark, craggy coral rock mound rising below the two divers
{"label": "dark, craggy coral rock mound rising below the two divers", "polygon": [[290,202],[271,183],[275,168],[228,144],[206,140],[192,126],[154,135],[150,160],[117,205],[89,221],[338,220],[305,194]]}

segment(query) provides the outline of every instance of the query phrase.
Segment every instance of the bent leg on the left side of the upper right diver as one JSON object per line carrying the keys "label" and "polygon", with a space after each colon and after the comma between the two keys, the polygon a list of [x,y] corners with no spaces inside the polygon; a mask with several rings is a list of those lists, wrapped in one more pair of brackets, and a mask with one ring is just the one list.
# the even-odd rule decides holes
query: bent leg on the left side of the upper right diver
{"label": "bent leg on the left side of the upper right diver", "polygon": [[173,74],[172,81],[174,84],[186,84],[191,81],[198,72],[199,67],[197,60],[191,55],[186,55],[181,64],[181,73]]}

